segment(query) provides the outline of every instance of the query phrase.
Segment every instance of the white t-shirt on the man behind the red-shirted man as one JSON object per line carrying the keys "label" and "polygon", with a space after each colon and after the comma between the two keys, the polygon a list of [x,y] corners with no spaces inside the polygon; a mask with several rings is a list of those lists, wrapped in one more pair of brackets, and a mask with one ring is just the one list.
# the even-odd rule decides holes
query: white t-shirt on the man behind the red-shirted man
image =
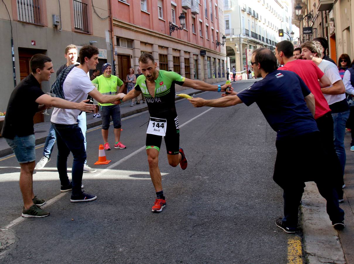
{"label": "white t-shirt on the man behind the red-shirted man", "polygon": [[[333,64],[331,61],[322,60],[321,63],[318,65],[320,70],[330,79],[331,83],[335,83],[341,80],[341,76],[339,75],[339,71],[337,65]],[[329,86],[329,87],[332,87]],[[328,105],[340,102],[346,99],[346,94],[323,94],[327,100]]]}

